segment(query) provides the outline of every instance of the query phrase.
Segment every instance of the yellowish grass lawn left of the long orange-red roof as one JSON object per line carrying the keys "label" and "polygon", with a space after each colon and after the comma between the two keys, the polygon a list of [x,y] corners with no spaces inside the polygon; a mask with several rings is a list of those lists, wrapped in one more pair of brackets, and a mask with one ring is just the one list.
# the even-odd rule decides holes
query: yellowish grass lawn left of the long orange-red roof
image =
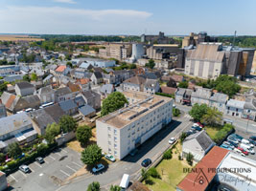
{"label": "yellowish grass lawn left of the long orange-red roof", "polygon": [[[175,191],[176,185],[184,179],[187,173],[183,173],[183,168],[191,167],[186,159],[179,160],[178,155],[181,152],[181,145],[178,143],[173,149],[173,159],[163,159],[156,170],[161,179],[151,178],[151,184],[146,184],[153,191]],[[144,182],[145,183],[145,182]]]}

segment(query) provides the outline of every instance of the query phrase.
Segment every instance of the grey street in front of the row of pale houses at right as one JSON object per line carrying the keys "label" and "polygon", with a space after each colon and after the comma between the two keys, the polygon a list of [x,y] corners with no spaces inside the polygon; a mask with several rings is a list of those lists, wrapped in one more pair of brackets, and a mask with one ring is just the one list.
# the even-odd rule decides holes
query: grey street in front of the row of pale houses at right
{"label": "grey street in front of the row of pale houses at right", "polygon": [[[191,110],[190,106],[186,105],[180,105],[175,103],[176,107],[185,113],[188,113]],[[224,115],[223,118],[231,119],[233,121],[233,124],[235,128],[239,131],[243,131],[244,133],[247,132],[247,134],[255,135],[256,134],[256,122],[247,120],[240,117],[231,117],[228,115]]]}

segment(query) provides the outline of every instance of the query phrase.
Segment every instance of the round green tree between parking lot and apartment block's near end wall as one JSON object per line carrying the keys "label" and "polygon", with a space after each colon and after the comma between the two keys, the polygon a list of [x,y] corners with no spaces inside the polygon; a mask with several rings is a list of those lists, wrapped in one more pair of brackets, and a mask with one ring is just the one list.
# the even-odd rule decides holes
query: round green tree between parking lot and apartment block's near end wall
{"label": "round green tree between parking lot and apartment block's near end wall", "polygon": [[81,161],[89,166],[95,165],[102,158],[102,149],[97,144],[91,144],[81,152]]}

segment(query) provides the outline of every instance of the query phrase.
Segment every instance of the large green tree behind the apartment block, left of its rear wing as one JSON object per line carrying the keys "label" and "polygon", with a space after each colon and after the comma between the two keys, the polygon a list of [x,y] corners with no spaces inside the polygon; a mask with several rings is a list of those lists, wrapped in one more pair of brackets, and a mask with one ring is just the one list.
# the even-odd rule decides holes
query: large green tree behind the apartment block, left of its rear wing
{"label": "large green tree behind the apartment block, left of its rear wing", "polygon": [[103,101],[102,116],[112,113],[128,103],[128,99],[120,92],[114,92],[107,96]]}

